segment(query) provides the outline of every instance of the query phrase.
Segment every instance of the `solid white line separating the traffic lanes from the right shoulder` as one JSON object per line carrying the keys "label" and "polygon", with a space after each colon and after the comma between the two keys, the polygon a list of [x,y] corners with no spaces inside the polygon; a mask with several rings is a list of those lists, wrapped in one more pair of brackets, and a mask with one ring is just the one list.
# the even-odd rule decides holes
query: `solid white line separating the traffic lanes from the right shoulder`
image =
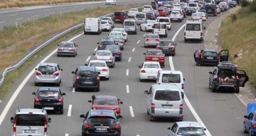
{"label": "solid white line separating the traffic lanes from the right shoulder", "polygon": [[[186,24],[184,24],[183,26],[181,26],[181,28],[175,33],[174,37],[172,38],[172,41],[174,42],[176,36],[178,35],[178,33],[181,31],[181,29],[184,28]],[[170,57],[169,57],[170,58]],[[172,63],[172,58],[171,60],[169,60],[170,62],[170,67],[173,67],[173,69],[171,68],[171,70],[174,70],[174,66],[173,66],[173,63]],[[197,120],[197,122],[201,123],[203,126],[205,126],[203,124],[203,121],[200,119],[200,117],[197,115],[197,112],[194,110],[194,108],[192,107],[191,103],[189,102],[189,100],[187,99],[187,96],[186,94],[184,94],[184,98],[183,100],[186,102],[189,110],[192,112],[193,116],[195,117],[195,119]],[[207,136],[212,136],[211,133],[208,131],[208,129],[205,131],[206,135]]]}

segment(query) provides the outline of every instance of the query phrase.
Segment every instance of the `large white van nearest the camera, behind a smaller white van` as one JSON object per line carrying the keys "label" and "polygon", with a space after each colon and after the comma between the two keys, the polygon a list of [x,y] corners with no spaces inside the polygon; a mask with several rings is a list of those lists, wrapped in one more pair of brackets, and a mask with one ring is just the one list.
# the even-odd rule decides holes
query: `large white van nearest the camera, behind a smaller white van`
{"label": "large white van nearest the camera, behind a smaller white van", "polygon": [[152,84],[148,94],[147,114],[149,120],[155,118],[176,118],[183,120],[183,101],[180,89],[173,84]]}

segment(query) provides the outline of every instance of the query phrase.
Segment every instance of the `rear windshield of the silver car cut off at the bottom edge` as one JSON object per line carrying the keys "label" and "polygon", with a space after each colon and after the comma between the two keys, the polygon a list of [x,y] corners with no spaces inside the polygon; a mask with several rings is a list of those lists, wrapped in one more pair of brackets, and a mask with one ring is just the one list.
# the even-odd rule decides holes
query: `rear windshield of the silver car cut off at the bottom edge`
{"label": "rear windshield of the silver car cut off at the bottom edge", "polygon": [[181,127],[179,128],[177,135],[181,136],[204,136],[202,127]]}

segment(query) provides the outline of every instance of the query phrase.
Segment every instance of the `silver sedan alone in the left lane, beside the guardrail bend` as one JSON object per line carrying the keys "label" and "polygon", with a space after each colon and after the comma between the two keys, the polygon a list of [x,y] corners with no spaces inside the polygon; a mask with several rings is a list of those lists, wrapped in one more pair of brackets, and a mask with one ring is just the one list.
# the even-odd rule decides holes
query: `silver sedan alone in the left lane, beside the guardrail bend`
{"label": "silver sedan alone in the left lane, beside the guardrail bend", "polygon": [[57,51],[58,57],[61,55],[69,55],[69,56],[75,57],[75,55],[77,55],[78,45],[75,45],[74,42],[60,42],[58,46],[59,46]]}

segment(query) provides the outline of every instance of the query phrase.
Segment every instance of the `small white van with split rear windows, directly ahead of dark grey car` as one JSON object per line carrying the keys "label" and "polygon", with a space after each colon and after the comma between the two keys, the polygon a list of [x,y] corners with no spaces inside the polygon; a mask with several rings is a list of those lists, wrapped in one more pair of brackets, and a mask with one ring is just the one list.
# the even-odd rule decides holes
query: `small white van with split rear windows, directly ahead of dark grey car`
{"label": "small white van with split rear windows, directly ahead of dark grey car", "polygon": [[154,23],[154,25],[152,26],[153,30],[152,33],[153,34],[158,34],[159,37],[167,37],[167,25],[165,23]]}

